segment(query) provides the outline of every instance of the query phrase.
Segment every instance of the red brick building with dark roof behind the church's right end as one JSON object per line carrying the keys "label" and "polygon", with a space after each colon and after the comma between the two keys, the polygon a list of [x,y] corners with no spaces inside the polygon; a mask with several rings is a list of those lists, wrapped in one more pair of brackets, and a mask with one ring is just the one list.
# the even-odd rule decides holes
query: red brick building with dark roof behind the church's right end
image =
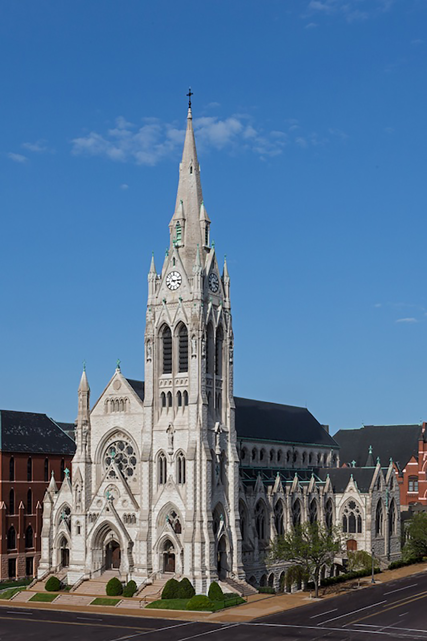
{"label": "red brick building with dark roof behind the church's right end", "polygon": [[400,490],[401,510],[427,505],[427,432],[422,425],[365,425],[340,429],[334,437],[340,445],[340,465],[374,466],[393,462]]}

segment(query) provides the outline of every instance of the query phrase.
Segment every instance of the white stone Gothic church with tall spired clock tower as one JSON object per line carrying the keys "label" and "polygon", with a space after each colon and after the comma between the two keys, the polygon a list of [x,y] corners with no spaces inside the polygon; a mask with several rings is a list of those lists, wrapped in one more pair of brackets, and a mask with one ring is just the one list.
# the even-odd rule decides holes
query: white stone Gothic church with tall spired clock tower
{"label": "white stone Gothic church with tall spired clock tower", "polygon": [[218,579],[279,587],[286,566],[267,565],[269,541],[308,520],[339,525],[347,549],[399,556],[392,463],[340,468],[306,408],[234,396],[230,275],[210,226],[189,103],[169,250],[148,273],[144,381],[117,363],[90,406],[83,371],[71,474],[44,497],[38,578],[115,569],[138,586],[185,576],[197,593]]}

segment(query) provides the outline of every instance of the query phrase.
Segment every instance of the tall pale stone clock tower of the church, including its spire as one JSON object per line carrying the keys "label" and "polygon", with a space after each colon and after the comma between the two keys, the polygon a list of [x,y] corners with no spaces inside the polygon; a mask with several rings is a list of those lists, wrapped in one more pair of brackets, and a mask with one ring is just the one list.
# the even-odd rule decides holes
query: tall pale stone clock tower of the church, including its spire
{"label": "tall pale stone clock tower of the church, including its spire", "polygon": [[169,249],[148,274],[142,565],[196,592],[244,576],[233,400],[230,277],[210,242],[188,106]]}

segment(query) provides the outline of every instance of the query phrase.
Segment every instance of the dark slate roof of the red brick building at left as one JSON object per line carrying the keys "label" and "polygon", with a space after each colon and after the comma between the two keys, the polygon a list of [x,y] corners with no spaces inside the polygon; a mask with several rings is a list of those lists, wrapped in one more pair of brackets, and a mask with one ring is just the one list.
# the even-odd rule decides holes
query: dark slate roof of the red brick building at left
{"label": "dark slate roof of the red brick building at left", "polygon": [[0,410],[3,452],[74,454],[76,444],[46,414]]}

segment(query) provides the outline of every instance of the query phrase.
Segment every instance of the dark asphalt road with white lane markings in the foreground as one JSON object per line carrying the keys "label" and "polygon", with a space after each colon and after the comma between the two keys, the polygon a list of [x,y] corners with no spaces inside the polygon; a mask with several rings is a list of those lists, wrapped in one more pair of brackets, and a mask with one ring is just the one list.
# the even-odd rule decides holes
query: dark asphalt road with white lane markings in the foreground
{"label": "dark asphalt road with white lane markings in the foreground", "polygon": [[248,623],[180,622],[0,607],[0,641],[427,641],[427,574]]}

